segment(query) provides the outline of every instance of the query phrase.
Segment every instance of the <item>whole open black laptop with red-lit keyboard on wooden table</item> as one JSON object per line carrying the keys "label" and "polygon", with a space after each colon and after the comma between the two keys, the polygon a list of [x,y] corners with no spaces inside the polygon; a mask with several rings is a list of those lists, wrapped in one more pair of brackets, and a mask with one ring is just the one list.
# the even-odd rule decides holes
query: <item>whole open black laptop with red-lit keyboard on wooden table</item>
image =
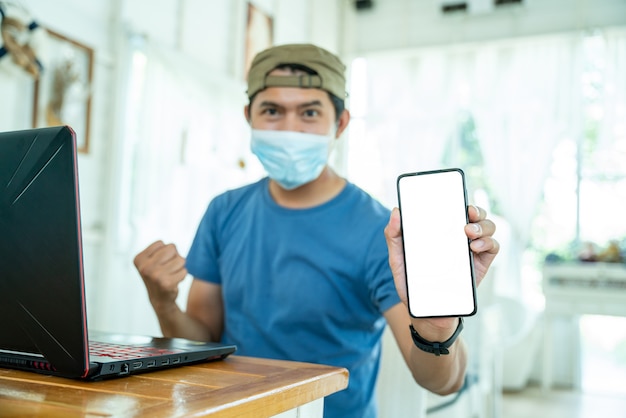
{"label": "whole open black laptop with red-lit keyboard on wooden table", "polygon": [[0,133],[0,367],[97,380],[235,351],[88,332],[80,219],[72,129]]}

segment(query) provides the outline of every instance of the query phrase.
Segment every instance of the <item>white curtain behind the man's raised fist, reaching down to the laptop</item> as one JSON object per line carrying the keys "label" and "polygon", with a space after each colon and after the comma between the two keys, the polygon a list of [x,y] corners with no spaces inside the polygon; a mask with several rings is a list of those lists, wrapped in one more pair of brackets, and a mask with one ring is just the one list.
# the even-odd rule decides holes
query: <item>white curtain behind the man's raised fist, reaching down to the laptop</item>
{"label": "white curtain behind the man's raised fist, reaching down to the laptop", "polygon": [[[94,325],[158,335],[133,258],[157,239],[176,244],[186,256],[211,198],[259,178],[262,167],[249,151],[243,80],[211,74],[148,40],[131,37],[130,45],[123,137],[116,138],[122,161],[116,216],[98,289],[122,309],[97,315]],[[181,285],[182,307],[189,285],[189,279]]]}

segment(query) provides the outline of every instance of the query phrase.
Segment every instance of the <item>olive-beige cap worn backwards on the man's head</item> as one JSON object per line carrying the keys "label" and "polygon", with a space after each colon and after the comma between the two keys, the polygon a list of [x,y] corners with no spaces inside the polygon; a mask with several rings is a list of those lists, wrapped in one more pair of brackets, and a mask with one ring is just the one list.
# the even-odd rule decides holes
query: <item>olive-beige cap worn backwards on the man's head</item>
{"label": "olive-beige cap worn backwards on the man's head", "polygon": [[[316,75],[271,76],[281,65],[302,65]],[[346,97],[346,66],[334,54],[311,44],[279,45],[259,52],[248,71],[248,97],[267,87],[302,87],[326,90],[343,99]]]}

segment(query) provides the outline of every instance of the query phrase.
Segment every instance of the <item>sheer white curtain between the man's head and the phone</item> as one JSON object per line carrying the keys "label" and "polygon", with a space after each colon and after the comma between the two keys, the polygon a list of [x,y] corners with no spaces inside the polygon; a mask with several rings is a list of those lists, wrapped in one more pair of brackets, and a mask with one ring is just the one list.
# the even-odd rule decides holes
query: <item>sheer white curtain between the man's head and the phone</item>
{"label": "sheer white curtain between the man's head and the phone", "polygon": [[365,83],[352,77],[348,175],[387,206],[397,205],[398,174],[437,168],[456,129],[446,59],[442,51],[366,57]]}

